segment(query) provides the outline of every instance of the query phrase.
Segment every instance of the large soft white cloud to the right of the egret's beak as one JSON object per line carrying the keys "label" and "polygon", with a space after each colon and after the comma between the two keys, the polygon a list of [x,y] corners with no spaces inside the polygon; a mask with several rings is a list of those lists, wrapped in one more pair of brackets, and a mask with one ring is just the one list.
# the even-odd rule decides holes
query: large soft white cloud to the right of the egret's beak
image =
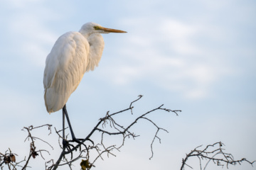
{"label": "large soft white cloud to the right of the egret's beak", "polygon": [[[138,27],[141,21],[144,25]],[[120,45],[122,57],[117,64],[108,64],[103,73],[114,75],[110,77],[114,84],[150,81],[168,91],[179,91],[184,98],[201,99],[233,72],[223,55],[215,56],[218,48],[206,49],[198,42],[200,36],[212,40],[212,35],[207,35],[208,26],[189,25],[172,18],[162,18],[154,24],[146,18],[134,22],[128,19],[125,23],[136,31],[131,30],[126,43]]]}

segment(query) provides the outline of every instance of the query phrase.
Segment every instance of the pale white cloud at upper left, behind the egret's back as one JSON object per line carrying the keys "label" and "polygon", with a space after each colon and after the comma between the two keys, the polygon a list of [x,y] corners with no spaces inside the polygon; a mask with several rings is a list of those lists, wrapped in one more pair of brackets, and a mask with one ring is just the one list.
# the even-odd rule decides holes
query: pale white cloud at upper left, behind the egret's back
{"label": "pale white cloud at upper left, behind the egret's back", "polygon": [[6,24],[6,34],[13,41],[12,49],[18,53],[18,57],[43,67],[50,52],[49,47],[58,36],[47,28],[40,14],[33,12],[25,13],[21,10],[14,13],[13,18]]}

